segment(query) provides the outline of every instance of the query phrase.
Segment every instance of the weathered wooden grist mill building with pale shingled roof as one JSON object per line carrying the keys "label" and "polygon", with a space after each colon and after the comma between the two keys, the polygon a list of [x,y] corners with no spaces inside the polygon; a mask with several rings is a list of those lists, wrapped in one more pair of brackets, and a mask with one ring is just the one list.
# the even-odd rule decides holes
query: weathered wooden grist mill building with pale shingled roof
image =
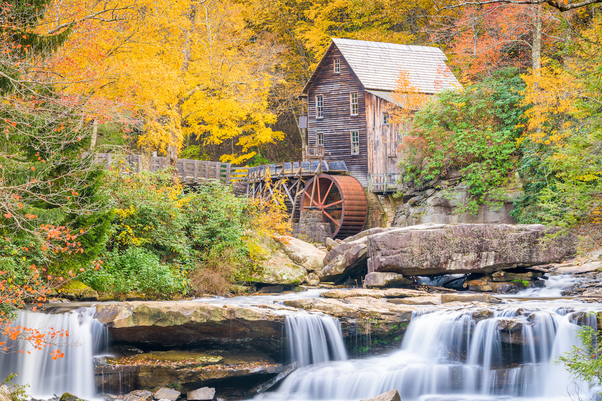
{"label": "weathered wooden grist mill building with pale shingled roof", "polygon": [[[426,95],[460,86],[438,47],[332,38],[300,97],[309,159],[344,161],[368,198],[366,228],[390,224],[404,127],[391,119],[400,75]],[[384,219],[384,221],[383,221]]]}

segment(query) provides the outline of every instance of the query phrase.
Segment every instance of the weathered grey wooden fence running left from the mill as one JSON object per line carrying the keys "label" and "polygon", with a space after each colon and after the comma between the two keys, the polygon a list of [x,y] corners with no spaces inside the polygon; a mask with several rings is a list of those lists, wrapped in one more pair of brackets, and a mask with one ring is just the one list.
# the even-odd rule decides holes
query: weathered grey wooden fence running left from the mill
{"label": "weathered grey wooden fence running left from the mill", "polygon": [[[141,155],[98,153],[96,162],[105,164],[108,169],[117,168],[123,174],[140,173],[144,170]],[[167,167],[169,167],[167,158],[151,157],[150,171],[153,173]],[[244,182],[249,170],[248,167],[232,167],[230,163],[191,159],[178,159],[177,168],[182,182],[188,184],[195,184],[199,183],[199,180],[209,179],[223,181],[226,185],[232,182]]]}

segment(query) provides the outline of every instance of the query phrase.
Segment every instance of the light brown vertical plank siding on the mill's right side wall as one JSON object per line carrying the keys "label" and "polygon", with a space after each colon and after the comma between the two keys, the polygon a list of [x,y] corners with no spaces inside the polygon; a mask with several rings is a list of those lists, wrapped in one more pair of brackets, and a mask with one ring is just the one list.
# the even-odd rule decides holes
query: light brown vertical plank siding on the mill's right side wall
{"label": "light brown vertical plank siding on the mill's right side wall", "polygon": [[402,139],[403,124],[383,124],[383,113],[389,112],[389,102],[366,93],[366,123],[368,127],[368,172],[370,174],[399,173],[397,151]]}

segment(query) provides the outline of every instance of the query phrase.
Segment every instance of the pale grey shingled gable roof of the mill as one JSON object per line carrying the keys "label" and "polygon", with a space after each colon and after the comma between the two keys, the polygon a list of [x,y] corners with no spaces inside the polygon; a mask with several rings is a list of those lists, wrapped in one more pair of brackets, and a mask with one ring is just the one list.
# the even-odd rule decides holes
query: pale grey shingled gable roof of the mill
{"label": "pale grey shingled gable roof of the mill", "polygon": [[445,64],[438,47],[332,38],[330,46],[312,73],[303,93],[326,63],[326,55],[336,46],[367,90],[393,91],[401,72],[408,72],[410,83],[423,93],[460,87],[458,79]]}

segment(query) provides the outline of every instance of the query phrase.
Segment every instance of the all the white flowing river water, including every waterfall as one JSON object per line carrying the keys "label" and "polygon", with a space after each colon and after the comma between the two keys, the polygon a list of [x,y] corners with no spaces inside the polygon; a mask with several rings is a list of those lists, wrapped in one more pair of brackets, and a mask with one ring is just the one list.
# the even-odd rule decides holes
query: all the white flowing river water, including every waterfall
{"label": "all the white flowing river water, including every waterfall", "polygon": [[[257,400],[359,400],[397,388],[403,400],[574,400],[596,389],[574,382],[554,363],[577,345],[579,325],[595,328],[595,319],[579,313],[602,310],[562,298],[575,278],[552,276],[547,287],[504,297],[504,304],[483,309],[445,305],[419,307],[399,349],[386,355],[350,359],[338,320],[304,311],[284,311],[290,355],[299,366]],[[268,304],[282,299],[315,298],[319,292],[284,296],[210,298],[202,302]],[[69,330],[78,347],[63,360],[48,354],[0,355],[0,376],[20,372],[36,398],[64,391],[85,399],[98,397],[93,383],[93,356],[107,346],[107,329],[93,319],[93,307],[64,313],[22,312],[16,324]],[[474,319],[479,314],[479,319]],[[501,332],[500,325],[518,328]],[[505,333],[505,334],[504,334]],[[509,334],[508,334],[509,333]],[[514,336],[507,338],[507,336]]]}

